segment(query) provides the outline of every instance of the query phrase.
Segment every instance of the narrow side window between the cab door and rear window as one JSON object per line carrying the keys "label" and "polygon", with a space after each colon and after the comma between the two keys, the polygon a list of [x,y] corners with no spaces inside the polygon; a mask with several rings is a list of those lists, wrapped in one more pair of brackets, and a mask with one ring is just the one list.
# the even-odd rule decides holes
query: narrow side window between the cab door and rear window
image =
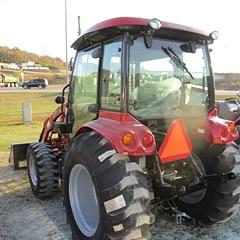
{"label": "narrow side window between the cab door and rear window", "polygon": [[101,81],[101,106],[120,110],[122,43],[114,42],[104,47]]}

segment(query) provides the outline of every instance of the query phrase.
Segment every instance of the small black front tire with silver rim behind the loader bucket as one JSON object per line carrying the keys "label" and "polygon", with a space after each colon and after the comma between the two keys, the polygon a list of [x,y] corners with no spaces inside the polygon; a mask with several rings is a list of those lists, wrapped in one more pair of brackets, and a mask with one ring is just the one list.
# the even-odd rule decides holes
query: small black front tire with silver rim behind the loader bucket
{"label": "small black front tire with silver rim behind the loader bucket", "polygon": [[59,190],[58,158],[45,143],[30,144],[27,153],[28,177],[34,195],[51,197]]}

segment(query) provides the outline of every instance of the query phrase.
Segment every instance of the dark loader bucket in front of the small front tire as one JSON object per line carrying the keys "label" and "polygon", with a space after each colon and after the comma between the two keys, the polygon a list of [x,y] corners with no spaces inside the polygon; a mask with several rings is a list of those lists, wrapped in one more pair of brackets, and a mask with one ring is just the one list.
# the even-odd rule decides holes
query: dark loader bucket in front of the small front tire
{"label": "dark loader bucket in front of the small front tire", "polygon": [[20,170],[27,167],[27,149],[31,143],[13,143],[11,144],[9,163],[13,164],[14,170]]}

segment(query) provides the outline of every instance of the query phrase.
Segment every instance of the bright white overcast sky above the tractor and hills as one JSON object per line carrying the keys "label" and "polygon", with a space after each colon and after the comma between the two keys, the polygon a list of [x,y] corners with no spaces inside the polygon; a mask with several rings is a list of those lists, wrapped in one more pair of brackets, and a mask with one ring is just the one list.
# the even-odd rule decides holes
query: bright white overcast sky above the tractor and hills
{"label": "bright white overcast sky above the tractor and hills", "polygon": [[[240,3],[238,0],[66,0],[68,59],[81,29],[108,18],[134,16],[158,18],[217,30],[212,65],[215,72],[240,72]],[[0,0],[0,46],[18,47],[65,60],[65,0]]]}

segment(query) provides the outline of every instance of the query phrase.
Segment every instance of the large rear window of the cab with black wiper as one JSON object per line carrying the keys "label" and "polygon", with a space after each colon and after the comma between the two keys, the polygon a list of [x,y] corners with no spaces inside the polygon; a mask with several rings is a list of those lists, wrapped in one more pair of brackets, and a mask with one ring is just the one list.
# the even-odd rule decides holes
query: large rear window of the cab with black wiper
{"label": "large rear window of the cab with black wiper", "polygon": [[206,107],[210,80],[204,44],[144,38],[130,48],[129,111],[154,118],[186,106]]}

